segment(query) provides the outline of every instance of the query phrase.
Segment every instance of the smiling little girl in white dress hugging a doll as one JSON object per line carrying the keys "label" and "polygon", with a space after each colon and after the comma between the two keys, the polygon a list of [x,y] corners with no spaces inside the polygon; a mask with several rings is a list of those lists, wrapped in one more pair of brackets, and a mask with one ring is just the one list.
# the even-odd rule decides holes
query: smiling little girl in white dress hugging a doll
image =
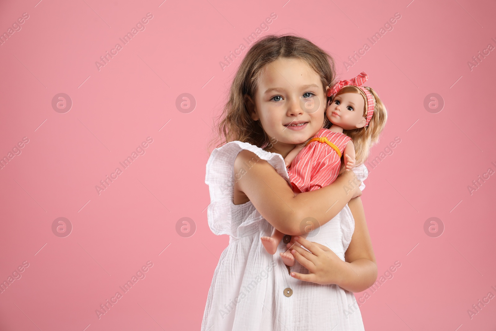
{"label": "smiling little girl in white dress hugging a doll", "polygon": [[[229,245],[213,274],[201,330],[364,330],[352,292],[377,278],[357,198],[367,168],[362,164],[328,186],[295,195],[284,164],[296,145],[323,127],[334,71],[325,51],[291,35],[261,38],[240,63],[217,124],[220,147],[206,165],[208,225],[216,235],[228,234]],[[301,102],[319,106],[305,112]],[[309,217],[320,225],[314,243],[298,237]],[[311,254],[295,246],[292,267],[267,254],[260,238],[274,228]]]}

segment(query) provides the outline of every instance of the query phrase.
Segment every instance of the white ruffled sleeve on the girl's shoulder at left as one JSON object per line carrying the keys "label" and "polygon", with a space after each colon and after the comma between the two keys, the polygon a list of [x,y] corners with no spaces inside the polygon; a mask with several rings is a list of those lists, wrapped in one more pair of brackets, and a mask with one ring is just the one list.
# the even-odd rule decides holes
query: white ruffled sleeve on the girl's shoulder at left
{"label": "white ruffled sleeve on the girl's shoulder at left", "polygon": [[[242,141],[231,141],[214,149],[207,161],[205,184],[208,185],[210,192],[210,204],[207,208],[208,226],[216,235],[228,234],[236,237],[238,227],[247,219],[247,212],[252,211],[248,209],[254,210],[251,201],[239,205],[233,203],[235,180],[243,175],[243,173],[235,175],[234,160],[243,149],[267,161],[291,185],[281,154],[267,152]],[[251,164],[247,163],[247,168],[250,166]]]}

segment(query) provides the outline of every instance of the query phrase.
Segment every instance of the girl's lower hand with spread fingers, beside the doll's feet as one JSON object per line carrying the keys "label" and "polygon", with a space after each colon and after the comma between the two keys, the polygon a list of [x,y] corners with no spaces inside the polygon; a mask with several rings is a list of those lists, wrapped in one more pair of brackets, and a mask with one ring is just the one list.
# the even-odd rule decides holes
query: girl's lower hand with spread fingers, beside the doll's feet
{"label": "girl's lower hand with spread fingers, beside the doll's feet", "polygon": [[310,242],[301,236],[293,236],[294,241],[307,248],[309,251],[294,243],[288,243],[291,254],[301,265],[309,269],[310,273],[291,272],[291,276],[300,280],[317,284],[337,284],[342,282],[348,268],[346,262],[341,260],[330,248],[318,243]]}

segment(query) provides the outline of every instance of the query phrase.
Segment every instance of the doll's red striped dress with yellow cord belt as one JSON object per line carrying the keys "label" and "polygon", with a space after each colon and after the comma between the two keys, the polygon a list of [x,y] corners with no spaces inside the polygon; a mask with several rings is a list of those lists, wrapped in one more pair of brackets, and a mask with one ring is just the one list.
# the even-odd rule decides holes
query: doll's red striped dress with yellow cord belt
{"label": "doll's red striped dress with yellow cord belt", "polygon": [[[320,129],[314,137],[326,137],[343,155],[349,136],[328,129]],[[295,157],[288,174],[295,192],[309,192],[327,186],[336,180],[341,158],[327,143],[312,141]]]}

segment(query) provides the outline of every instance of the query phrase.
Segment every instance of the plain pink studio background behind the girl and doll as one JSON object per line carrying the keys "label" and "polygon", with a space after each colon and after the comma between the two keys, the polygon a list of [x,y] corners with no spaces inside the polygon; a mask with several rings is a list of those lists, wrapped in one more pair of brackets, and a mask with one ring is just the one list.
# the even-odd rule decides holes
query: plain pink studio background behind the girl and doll
{"label": "plain pink studio background behind the girl and doll", "polygon": [[[372,158],[401,139],[370,167],[362,197],[379,275],[401,263],[368,290],[366,330],[494,330],[496,299],[472,319],[467,310],[496,295],[496,176],[472,195],[467,186],[496,170],[496,52],[472,70],[467,62],[496,46],[496,4],[286,1],[1,2],[0,32],[29,18],[0,46],[0,157],[29,142],[0,170],[0,280],[29,267],[0,294],[0,330],[200,328],[228,244],[207,225],[206,140],[241,59],[224,71],[219,62],[271,13],[263,35],[309,38],[343,78],[369,73],[389,111]],[[148,12],[145,30],[98,70]],[[343,61],[395,13],[393,30],[347,71]],[[52,108],[58,93],[73,103],[64,114]],[[176,108],[182,93],[196,100],[189,113]],[[436,114],[424,107],[430,93],[444,100]],[[95,186],[146,137],[145,154],[99,195]],[[69,236],[52,231],[58,217]],[[196,226],[187,238],[176,231],[182,217]],[[441,236],[424,231],[430,217]],[[99,319],[95,310],[147,261],[146,277]]]}

